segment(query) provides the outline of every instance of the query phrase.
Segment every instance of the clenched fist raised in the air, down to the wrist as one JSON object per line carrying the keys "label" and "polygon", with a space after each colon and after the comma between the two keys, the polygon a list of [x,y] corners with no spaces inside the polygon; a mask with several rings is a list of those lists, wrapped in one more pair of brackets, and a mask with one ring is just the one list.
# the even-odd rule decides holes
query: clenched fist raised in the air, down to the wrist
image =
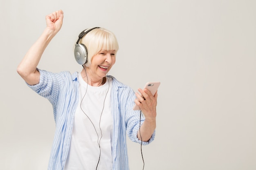
{"label": "clenched fist raised in the air, down to the wrist", "polygon": [[53,31],[53,34],[56,35],[60,31],[63,23],[63,11],[55,11],[45,17],[46,28]]}

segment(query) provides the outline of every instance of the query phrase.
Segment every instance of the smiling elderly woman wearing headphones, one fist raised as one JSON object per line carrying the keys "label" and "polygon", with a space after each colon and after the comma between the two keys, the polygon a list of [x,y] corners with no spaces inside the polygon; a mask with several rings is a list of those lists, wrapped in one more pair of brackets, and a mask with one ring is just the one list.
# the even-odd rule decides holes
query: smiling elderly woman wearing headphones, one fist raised
{"label": "smiling elderly woman wearing headphones, one fist raised", "polygon": [[[109,76],[119,49],[113,33],[103,28],[82,31],[74,55],[81,73],[51,73],[37,68],[40,58],[61,29],[63,11],[46,16],[46,28],[31,46],[17,71],[28,86],[53,106],[56,132],[48,170],[128,170],[126,132],[139,144],[153,141],[157,93],[134,93]],[[133,110],[137,104],[141,111]]]}

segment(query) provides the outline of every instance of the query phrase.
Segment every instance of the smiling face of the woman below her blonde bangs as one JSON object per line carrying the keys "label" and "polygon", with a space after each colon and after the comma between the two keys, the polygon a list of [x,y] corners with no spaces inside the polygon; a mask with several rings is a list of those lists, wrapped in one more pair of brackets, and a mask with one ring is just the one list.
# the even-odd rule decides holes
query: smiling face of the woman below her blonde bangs
{"label": "smiling face of the woman below her blonde bangs", "polygon": [[[110,71],[111,67],[116,62],[116,51],[115,50],[101,50],[92,57],[92,61],[89,68],[90,75],[95,76],[94,78],[103,78]],[[97,77],[96,77],[97,76]]]}

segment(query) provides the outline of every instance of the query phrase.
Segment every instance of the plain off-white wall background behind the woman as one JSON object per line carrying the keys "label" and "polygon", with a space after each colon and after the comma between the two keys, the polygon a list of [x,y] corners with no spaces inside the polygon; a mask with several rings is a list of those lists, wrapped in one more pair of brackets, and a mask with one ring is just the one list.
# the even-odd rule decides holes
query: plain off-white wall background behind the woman
{"label": "plain off-white wall background behind the woman", "polygon": [[[74,43],[100,26],[119,41],[110,75],[135,91],[161,82],[144,170],[256,169],[255,0],[1,0],[0,169],[47,169],[52,106],[16,68],[59,9],[39,68],[81,71]],[[142,170],[140,145],[128,139],[128,152],[130,170]]]}

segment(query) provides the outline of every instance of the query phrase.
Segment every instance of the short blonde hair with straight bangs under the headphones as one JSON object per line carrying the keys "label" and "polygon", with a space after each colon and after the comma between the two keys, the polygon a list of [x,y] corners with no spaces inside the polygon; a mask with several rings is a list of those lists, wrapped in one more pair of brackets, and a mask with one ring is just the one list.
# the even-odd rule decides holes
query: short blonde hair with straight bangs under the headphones
{"label": "short blonde hair with straight bangs under the headphones", "polygon": [[117,53],[119,49],[117,38],[114,33],[104,28],[93,29],[81,38],[80,43],[84,44],[88,50],[88,61],[85,66],[90,66],[92,57],[99,51],[115,50]]}

